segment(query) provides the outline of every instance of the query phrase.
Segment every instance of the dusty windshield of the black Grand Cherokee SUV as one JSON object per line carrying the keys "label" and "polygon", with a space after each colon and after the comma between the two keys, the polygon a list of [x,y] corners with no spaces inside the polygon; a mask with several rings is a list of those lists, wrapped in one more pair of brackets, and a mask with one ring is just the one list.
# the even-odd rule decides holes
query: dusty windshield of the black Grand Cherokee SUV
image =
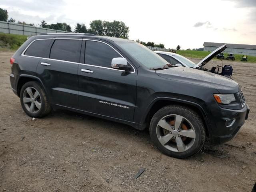
{"label": "dusty windshield of the black Grand Cherokee SUV", "polygon": [[121,48],[126,50],[140,64],[148,68],[158,68],[169,64],[166,60],[150,50],[146,46],[135,42],[116,42]]}

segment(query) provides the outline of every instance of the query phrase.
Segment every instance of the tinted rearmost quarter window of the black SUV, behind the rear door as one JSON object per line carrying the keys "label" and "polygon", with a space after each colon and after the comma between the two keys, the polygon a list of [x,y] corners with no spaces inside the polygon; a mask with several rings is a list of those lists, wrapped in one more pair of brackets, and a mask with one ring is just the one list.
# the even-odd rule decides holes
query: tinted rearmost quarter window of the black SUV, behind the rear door
{"label": "tinted rearmost quarter window of the black SUV, behind the rear door", "polygon": [[46,50],[52,40],[36,40],[34,41],[26,50],[24,55],[34,56],[34,57],[45,57]]}

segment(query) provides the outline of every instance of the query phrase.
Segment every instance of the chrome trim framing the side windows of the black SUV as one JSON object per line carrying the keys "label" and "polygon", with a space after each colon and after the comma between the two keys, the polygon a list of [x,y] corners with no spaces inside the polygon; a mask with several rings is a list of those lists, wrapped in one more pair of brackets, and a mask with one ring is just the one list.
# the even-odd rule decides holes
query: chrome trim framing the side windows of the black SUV
{"label": "chrome trim framing the side windows of the black SUV", "polygon": [[[98,68],[104,68],[104,69],[110,69],[110,70],[116,70],[116,71],[122,71],[124,72],[124,70],[120,70],[120,69],[114,69],[114,68],[110,68],[110,67],[102,67],[102,66],[97,66],[97,65],[90,65],[90,64],[83,64],[83,63],[77,63],[77,62],[72,62],[72,61],[65,61],[65,60],[58,60],[58,59],[51,59],[51,58],[44,58],[44,57],[36,57],[36,56],[29,56],[29,55],[24,55],[24,53],[26,52],[26,50],[29,48],[29,46],[38,40],[56,40],[56,39],[62,39],[62,40],[85,40],[85,41],[96,41],[96,42],[101,42],[104,43],[108,46],[110,46],[113,50],[115,50],[122,58],[124,58],[114,47],[112,47],[111,45],[107,44],[106,42],[103,41],[99,41],[99,40],[92,40],[92,39],[81,39],[81,38],[46,38],[46,39],[35,39],[32,42],[30,42],[30,44],[28,44],[28,46],[24,49],[24,51],[22,52],[21,56],[25,56],[25,57],[33,57],[33,58],[40,58],[40,59],[47,59],[47,60],[54,60],[54,61],[61,61],[61,62],[68,62],[68,63],[73,63],[73,64],[81,64],[81,65],[86,65],[86,66],[92,66],[92,67],[98,67]],[[127,61],[133,68],[132,72],[128,72],[128,73],[135,73],[135,68],[134,66]]]}

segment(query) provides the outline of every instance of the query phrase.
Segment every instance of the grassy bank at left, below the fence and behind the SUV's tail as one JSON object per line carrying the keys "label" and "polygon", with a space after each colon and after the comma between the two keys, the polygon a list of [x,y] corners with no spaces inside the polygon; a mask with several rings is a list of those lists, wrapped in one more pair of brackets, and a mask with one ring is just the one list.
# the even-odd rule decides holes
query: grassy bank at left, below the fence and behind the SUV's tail
{"label": "grassy bank at left, below the fence and behind the SUV's tail", "polygon": [[25,41],[27,36],[0,33],[0,48],[2,50],[17,50]]}

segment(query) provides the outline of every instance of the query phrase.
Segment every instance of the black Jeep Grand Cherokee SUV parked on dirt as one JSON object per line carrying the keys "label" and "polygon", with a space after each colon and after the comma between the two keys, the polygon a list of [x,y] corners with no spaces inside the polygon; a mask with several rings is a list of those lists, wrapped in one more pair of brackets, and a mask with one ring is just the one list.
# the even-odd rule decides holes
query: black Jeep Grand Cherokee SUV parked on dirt
{"label": "black Jeep Grand Cherokee SUV parked on dirt", "polygon": [[249,107],[229,78],[173,67],[137,42],[92,34],[30,37],[10,59],[10,82],[31,117],[67,109],[150,129],[164,154],[185,158],[221,144]]}

